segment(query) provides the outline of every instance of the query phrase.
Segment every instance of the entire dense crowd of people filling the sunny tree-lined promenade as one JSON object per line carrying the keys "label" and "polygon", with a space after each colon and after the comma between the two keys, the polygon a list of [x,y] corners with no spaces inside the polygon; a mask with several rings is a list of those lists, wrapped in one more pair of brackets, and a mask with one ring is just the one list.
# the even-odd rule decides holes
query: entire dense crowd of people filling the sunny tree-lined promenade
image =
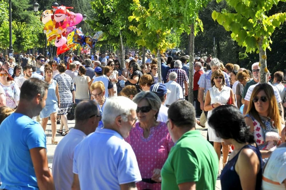
{"label": "entire dense crowd of people filling the sunny tree-lined promenade", "polygon": [[286,188],[281,71],[263,83],[259,63],[247,70],[183,52],[162,54],[161,74],[139,52],[124,63],[108,52],[11,63],[0,67],[0,189],[215,189],[217,177],[222,189]]}

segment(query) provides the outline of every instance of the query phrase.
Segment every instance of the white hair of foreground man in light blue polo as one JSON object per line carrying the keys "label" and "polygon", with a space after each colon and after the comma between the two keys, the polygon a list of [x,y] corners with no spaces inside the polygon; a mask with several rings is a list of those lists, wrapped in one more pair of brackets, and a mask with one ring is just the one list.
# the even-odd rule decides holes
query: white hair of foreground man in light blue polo
{"label": "white hair of foreground man in light blue polo", "polygon": [[115,96],[105,103],[104,110],[102,113],[102,122],[106,124],[114,124],[116,117],[121,116],[122,120],[128,121],[128,116],[131,111],[136,111],[137,104],[135,104],[129,98],[124,96]]}

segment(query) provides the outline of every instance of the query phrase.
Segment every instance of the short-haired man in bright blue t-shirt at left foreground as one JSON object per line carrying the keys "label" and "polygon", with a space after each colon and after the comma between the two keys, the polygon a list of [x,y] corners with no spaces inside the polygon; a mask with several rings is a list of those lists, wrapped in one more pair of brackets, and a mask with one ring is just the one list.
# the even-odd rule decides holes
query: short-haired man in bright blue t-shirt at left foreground
{"label": "short-haired man in bright blue t-shirt at left foreground", "polygon": [[0,125],[0,189],[55,189],[45,132],[31,119],[45,107],[47,89],[43,80],[26,80],[17,110]]}

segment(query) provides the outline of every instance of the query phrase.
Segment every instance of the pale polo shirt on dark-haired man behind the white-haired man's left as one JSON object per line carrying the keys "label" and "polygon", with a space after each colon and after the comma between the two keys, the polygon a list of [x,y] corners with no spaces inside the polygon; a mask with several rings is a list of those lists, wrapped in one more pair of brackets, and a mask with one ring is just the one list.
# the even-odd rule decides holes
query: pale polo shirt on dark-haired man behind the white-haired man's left
{"label": "pale polo shirt on dark-haired man behind the white-haired man's left", "polygon": [[71,129],[57,145],[52,167],[55,189],[72,189],[74,149],[85,137],[81,130]]}

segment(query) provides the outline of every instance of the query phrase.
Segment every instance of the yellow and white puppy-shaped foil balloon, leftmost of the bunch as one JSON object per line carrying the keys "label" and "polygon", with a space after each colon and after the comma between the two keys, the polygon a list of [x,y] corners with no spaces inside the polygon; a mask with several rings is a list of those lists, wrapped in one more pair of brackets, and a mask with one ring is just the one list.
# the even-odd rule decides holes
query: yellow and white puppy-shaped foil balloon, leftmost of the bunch
{"label": "yellow and white puppy-shaped foil balloon, leftmost of the bunch", "polygon": [[52,21],[53,10],[45,10],[40,17],[40,21],[45,25],[43,32],[47,36],[48,41],[52,41],[57,37],[55,30],[53,30],[55,21]]}

